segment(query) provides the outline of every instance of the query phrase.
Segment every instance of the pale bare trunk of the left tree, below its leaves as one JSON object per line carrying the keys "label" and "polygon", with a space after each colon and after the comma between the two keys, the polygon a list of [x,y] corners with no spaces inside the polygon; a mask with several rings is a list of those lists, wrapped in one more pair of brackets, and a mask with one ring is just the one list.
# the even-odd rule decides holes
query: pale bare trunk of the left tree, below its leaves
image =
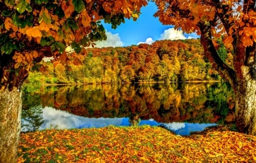
{"label": "pale bare trunk of the left tree, below its leaves", "polygon": [[21,95],[18,89],[0,90],[0,162],[16,163],[18,160]]}

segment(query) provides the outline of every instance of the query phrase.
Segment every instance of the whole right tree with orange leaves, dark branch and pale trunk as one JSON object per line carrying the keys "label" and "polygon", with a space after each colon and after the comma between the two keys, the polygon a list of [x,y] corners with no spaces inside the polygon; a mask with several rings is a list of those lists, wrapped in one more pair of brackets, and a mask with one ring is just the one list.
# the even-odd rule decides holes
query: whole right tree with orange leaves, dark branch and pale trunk
{"label": "whole right tree with orange leaves, dark branch and pale trunk", "polygon": [[[255,0],[172,0],[155,1],[163,24],[184,32],[197,32],[205,56],[228,80],[236,97],[236,125],[239,131],[256,135],[256,12]],[[218,55],[217,38],[233,48],[233,65]]]}

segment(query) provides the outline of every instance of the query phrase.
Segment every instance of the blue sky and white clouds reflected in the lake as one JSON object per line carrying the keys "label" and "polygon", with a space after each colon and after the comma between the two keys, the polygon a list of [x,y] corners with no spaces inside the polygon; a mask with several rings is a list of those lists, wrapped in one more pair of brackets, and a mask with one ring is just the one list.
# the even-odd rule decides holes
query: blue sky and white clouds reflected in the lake
{"label": "blue sky and white clouds reflected in the lake", "polygon": [[[43,108],[43,124],[39,127],[42,129],[71,129],[71,128],[100,128],[107,126],[130,126],[129,118],[85,118],[70,114],[66,111],[56,110],[52,107]],[[22,126],[28,122],[22,119]],[[141,120],[139,125],[164,126],[175,132],[177,135],[189,135],[191,132],[203,131],[206,127],[216,126],[216,124],[199,124],[199,123],[158,123],[154,119]],[[22,132],[27,129],[22,127]]]}

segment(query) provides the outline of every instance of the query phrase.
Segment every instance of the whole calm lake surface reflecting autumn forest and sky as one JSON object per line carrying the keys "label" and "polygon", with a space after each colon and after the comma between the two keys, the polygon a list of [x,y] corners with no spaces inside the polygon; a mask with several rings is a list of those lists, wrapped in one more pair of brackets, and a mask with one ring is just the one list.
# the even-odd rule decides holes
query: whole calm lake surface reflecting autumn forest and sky
{"label": "whole calm lake surface reflecting autumn forest and sky", "polygon": [[148,124],[179,135],[234,122],[226,82],[45,86],[23,93],[22,131]]}

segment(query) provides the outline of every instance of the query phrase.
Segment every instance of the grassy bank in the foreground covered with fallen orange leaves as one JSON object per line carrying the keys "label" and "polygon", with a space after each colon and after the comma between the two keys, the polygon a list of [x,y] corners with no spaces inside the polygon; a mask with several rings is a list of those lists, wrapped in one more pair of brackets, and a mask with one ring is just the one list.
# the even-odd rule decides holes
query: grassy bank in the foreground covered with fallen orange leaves
{"label": "grassy bank in the foreground covered with fallen orange leaves", "polygon": [[18,162],[256,162],[256,136],[228,127],[179,136],[161,127],[21,133]]}

